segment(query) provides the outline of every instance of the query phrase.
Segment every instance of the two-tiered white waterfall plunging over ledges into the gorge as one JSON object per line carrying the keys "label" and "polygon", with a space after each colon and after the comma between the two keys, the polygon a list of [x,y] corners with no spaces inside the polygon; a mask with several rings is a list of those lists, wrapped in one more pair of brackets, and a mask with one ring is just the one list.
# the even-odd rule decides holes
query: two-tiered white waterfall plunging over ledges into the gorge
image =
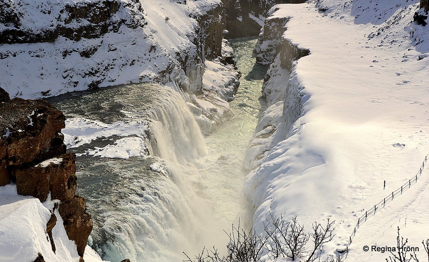
{"label": "two-tiered white waterfall plunging over ledges into the gorge", "polygon": [[[91,103],[76,109],[73,99],[103,104],[109,110],[93,108]],[[89,212],[95,214],[88,242],[104,260],[182,261],[186,258],[183,251],[196,254],[202,242],[210,243],[215,234],[223,234],[211,221],[210,200],[196,193],[206,187],[200,173],[200,162],[206,155],[205,138],[181,94],[146,83],[104,89],[70,100],[68,113],[76,117],[85,113],[102,123],[149,123],[149,132],[133,132],[149,134],[151,145],[147,146],[152,156],[78,159],[83,166],[78,172],[80,193],[86,196]],[[104,140],[118,139],[111,135]],[[101,142],[94,140],[89,146],[97,143]]]}

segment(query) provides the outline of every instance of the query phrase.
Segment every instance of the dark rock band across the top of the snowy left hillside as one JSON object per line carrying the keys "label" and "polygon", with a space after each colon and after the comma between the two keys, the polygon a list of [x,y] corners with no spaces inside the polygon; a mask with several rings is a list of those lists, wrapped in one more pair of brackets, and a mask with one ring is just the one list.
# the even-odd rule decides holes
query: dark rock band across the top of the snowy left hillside
{"label": "dark rock band across the top of the snowy left hillside", "polygon": [[126,18],[115,16],[120,9],[125,8],[143,12],[139,1],[97,0],[85,3],[69,2],[65,5],[46,2],[42,3],[39,9],[40,15],[51,17],[51,21],[61,17],[64,23],[51,23],[50,26],[35,31],[27,27],[27,17],[22,16],[23,4],[25,5],[25,1],[21,0],[0,3],[2,5],[0,23],[10,25],[0,32],[0,44],[53,42],[60,36],[79,41],[82,37],[91,39],[103,33],[118,32],[122,24],[130,28],[145,24],[143,16],[137,12]]}

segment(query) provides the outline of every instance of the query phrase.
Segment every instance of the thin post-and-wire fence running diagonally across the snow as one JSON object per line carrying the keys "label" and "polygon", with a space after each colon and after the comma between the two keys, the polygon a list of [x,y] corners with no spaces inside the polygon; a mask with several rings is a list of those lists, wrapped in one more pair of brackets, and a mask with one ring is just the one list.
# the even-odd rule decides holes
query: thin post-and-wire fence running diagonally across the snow
{"label": "thin post-and-wire fence running diagonally across the snow", "polygon": [[358,219],[358,223],[356,224],[355,229],[353,230],[352,234],[349,237],[349,241],[347,244],[347,252],[348,252],[348,246],[352,244],[352,240],[356,235],[356,230],[359,229],[360,225],[365,223],[369,217],[375,215],[379,209],[384,208],[386,204],[392,202],[395,199],[395,197],[402,195],[403,192],[407,191],[408,189],[411,188],[412,185],[417,183],[417,180],[421,177],[422,171],[425,168],[425,164],[428,161],[428,157],[429,157],[429,154],[425,156],[425,160],[423,161],[423,164],[420,166],[420,170],[417,172],[417,174],[414,177],[409,179],[406,183],[401,185],[395,191],[392,191],[391,194],[384,197],[380,202],[375,204],[370,210],[365,211],[365,213]]}

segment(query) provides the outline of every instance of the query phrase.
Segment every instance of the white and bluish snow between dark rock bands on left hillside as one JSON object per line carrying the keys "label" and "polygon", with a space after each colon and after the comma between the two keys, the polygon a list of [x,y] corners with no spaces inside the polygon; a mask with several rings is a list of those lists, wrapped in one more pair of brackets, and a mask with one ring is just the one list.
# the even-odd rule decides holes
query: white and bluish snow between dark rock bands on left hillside
{"label": "white and bluish snow between dark rock bands on left hillside", "polygon": [[[73,1],[12,2],[20,19],[21,28],[29,32],[52,30],[57,26],[77,28],[89,23],[80,19],[65,23],[61,10],[65,5],[87,3]],[[176,53],[189,54],[196,58],[197,47],[192,35],[198,23],[192,17],[205,14],[220,0],[188,1],[179,4],[168,0],[141,0],[144,11],[138,10],[138,2],[121,0],[120,10],[110,21],[131,23],[147,22],[137,28],[122,24],[118,32],[103,34],[100,38],[73,41],[58,37],[54,42],[32,44],[2,44],[0,85],[12,98],[42,98],[67,92],[85,90],[88,84],[100,82],[100,87],[130,82],[174,82],[182,81],[195,90],[201,81],[190,82],[180,68]],[[125,4],[128,6],[125,7]],[[168,14],[168,15],[166,15]],[[169,17],[167,20],[166,17]],[[6,27],[1,25],[0,30]],[[92,51],[93,53],[92,53]],[[86,51],[92,53],[89,57]],[[195,56],[195,57],[194,57]],[[202,61],[196,61],[202,64]],[[79,65],[77,68],[76,65]],[[158,73],[175,67],[166,79]],[[196,65],[198,66],[198,65]]]}

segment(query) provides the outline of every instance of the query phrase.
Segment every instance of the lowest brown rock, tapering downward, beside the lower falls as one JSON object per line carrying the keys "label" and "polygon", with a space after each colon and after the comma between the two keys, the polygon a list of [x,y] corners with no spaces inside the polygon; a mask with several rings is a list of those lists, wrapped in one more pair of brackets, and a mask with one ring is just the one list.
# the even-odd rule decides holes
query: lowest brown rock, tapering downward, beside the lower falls
{"label": "lowest brown rock, tapering downward, beside the lower falls", "polygon": [[61,203],[58,211],[64,220],[67,236],[74,240],[77,253],[83,257],[92,230],[91,215],[86,213],[85,198],[76,195],[71,200]]}

